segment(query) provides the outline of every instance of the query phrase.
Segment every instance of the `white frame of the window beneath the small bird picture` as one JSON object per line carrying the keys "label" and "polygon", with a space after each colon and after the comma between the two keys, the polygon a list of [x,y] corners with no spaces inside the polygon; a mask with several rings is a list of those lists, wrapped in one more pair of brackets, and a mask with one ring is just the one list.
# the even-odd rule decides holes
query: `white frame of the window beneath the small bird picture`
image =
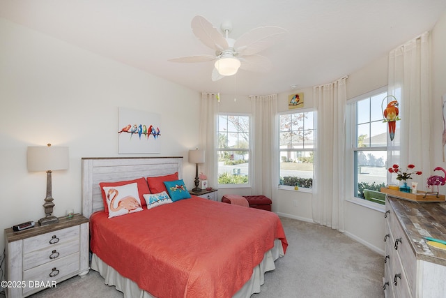
{"label": "white frame of the window beneath the small bird picture", "polygon": [[[297,110],[297,109],[296,109]],[[317,120],[316,120],[316,110],[314,109],[314,107],[307,107],[307,108],[300,108],[298,109],[298,111],[296,110],[287,110],[287,111],[283,111],[283,112],[278,112],[277,113],[277,181],[279,181],[279,183],[277,184],[277,188],[281,189],[281,190],[286,190],[286,191],[300,191],[303,193],[313,193],[313,189],[314,188],[305,188],[305,187],[299,187],[297,190],[294,188],[294,186],[288,186],[288,185],[283,185],[280,184],[280,154],[282,151],[307,151],[307,152],[313,152],[313,158],[316,158],[316,142],[317,142]],[[307,112],[312,112],[313,113],[313,131],[314,131],[314,145],[312,149],[281,149],[280,148],[280,117],[282,117],[283,115],[286,114],[302,114],[302,113],[307,113]],[[314,184],[314,163],[313,163],[313,184]]]}

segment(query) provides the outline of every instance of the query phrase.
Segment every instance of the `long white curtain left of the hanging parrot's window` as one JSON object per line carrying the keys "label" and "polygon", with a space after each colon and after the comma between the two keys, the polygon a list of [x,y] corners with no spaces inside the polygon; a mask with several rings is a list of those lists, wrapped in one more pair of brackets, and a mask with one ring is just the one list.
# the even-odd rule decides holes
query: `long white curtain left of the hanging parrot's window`
{"label": "long white curtain left of the hanging parrot's window", "polygon": [[346,79],[313,89],[317,118],[313,220],[344,232]]}

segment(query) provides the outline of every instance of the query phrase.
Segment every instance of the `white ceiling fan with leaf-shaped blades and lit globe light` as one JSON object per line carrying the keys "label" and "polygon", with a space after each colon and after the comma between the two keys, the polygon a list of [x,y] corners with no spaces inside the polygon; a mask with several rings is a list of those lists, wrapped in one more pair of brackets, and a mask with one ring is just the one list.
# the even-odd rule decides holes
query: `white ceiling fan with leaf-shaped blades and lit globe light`
{"label": "white ceiling fan with leaf-shaped blades and lit globe light", "polygon": [[264,26],[252,29],[237,40],[229,38],[232,31],[231,22],[222,23],[220,33],[201,15],[192,19],[192,31],[201,42],[215,50],[214,55],[205,54],[169,59],[173,62],[206,62],[215,61],[212,80],[235,75],[238,68],[243,70],[266,73],[272,67],[271,61],[258,52],[265,50],[284,37],[286,30],[275,26]]}

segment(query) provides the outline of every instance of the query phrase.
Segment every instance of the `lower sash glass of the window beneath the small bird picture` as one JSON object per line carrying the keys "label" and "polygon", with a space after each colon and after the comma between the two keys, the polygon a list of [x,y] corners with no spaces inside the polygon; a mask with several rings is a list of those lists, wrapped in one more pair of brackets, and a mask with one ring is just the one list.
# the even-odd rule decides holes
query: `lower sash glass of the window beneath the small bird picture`
{"label": "lower sash glass of the window beneath the small bird picture", "polygon": [[280,184],[312,188],[313,165],[312,151],[281,151]]}

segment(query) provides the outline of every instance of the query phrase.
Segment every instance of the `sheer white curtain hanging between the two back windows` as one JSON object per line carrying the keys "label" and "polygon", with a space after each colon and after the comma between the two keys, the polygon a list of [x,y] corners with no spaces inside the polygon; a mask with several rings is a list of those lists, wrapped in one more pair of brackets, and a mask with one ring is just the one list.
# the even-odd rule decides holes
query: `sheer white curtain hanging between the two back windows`
{"label": "sheer white curtain hanging between the two back windows", "polygon": [[266,195],[272,198],[272,185],[277,185],[278,170],[273,164],[277,163],[277,149],[275,147],[276,131],[275,117],[277,114],[277,94],[268,96],[249,96],[251,110],[254,113],[252,145],[252,193]]}

